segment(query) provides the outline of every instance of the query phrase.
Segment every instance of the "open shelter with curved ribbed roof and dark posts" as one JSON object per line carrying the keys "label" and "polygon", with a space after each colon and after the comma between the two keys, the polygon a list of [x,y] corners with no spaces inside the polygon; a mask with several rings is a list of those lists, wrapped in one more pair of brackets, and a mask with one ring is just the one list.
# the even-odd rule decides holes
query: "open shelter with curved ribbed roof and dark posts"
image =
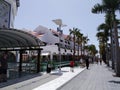
{"label": "open shelter with curved ribbed roof and dark posts", "polygon": [[16,64],[19,77],[21,77],[23,71],[23,54],[25,54],[26,51],[36,52],[36,73],[40,72],[40,54],[42,50],[40,46],[44,46],[44,43],[28,32],[17,29],[0,28],[0,53],[17,52],[17,54],[19,54],[19,58],[14,58],[19,59]]}

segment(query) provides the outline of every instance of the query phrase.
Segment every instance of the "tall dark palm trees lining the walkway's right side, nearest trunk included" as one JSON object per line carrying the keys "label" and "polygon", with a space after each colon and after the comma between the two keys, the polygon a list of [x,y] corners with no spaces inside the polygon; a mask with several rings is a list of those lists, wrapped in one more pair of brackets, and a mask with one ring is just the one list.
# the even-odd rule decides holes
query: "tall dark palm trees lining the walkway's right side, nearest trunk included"
{"label": "tall dark palm trees lining the walkway's right side, nearest trunk included", "polygon": [[98,33],[96,34],[100,43],[100,54],[104,57],[104,61],[108,60],[106,53],[108,52],[107,42],[110,37],[112,67],[115,68],[116,75],[120,76],[120,52],[117,30],[119,22],[116,19],[116,11],[120,11],[120,0],[102,0],[101,4],[97,3],[92,8],[92,13],[105,14],[105,23],[98,27]]}

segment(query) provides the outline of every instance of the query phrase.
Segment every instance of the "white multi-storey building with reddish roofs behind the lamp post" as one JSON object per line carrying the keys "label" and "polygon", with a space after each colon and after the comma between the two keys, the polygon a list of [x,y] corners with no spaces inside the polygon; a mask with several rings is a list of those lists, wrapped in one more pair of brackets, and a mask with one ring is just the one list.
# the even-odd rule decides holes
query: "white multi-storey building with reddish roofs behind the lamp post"
{"label": "white multi-storey building with reddish roofs behind the lamp post", "polygon": [[[59,33],[55,30],[48,29],[44,26],[39,25],[35,30],[30,31],[33,35],[38,37],[43,41],[46,46],[43,46],[41,55],[49,56],[49,59],[54,60],[54,55],[57,55],[59,58],[59,53],[61,56],[73,55],[73,41],[67,39],[68,35],[62,34],[59,37]],[[59,52],[59,43],[60,43],[60,52]],[[78,53],[78,45],[76,44],[76,55]],[[80,54],[79,50],[79,54]],[[63,57],[62,57],[63,58]]]}

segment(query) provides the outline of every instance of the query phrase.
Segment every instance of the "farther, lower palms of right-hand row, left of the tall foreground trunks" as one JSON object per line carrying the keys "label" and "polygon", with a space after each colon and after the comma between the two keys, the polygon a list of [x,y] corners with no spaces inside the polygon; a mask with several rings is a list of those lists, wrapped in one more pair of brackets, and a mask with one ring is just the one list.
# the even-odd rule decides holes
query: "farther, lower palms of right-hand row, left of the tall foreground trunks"
{"label": "farther, lower palms of right-hand row, left of the tall foreground trunks", "polygon": [[[109,24],[110,18],[109,15],[106,15],[105,23],[102,23],[101,25],[98,26],[98,33],[96,36],[98,37],[99,40],[99,47],[100,47],[100,55],[101,58],[105,63],[107,63],[108,60],[106,57],[106,48],[108,46],[108,41],[109,41],[109,36],[110,36],[110,24]],[[109,65],[108,65],[109,66]]]}

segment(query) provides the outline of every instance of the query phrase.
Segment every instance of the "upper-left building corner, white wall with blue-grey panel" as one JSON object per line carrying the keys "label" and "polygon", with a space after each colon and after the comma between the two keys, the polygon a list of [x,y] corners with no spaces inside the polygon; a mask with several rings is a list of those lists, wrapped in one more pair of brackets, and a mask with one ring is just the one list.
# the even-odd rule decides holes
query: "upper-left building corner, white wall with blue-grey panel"
{"label": "upper-left building corner, white wall with blue-grey panel", "polygon": [[0,28],[14,28],[19,0],[0,0]]}

